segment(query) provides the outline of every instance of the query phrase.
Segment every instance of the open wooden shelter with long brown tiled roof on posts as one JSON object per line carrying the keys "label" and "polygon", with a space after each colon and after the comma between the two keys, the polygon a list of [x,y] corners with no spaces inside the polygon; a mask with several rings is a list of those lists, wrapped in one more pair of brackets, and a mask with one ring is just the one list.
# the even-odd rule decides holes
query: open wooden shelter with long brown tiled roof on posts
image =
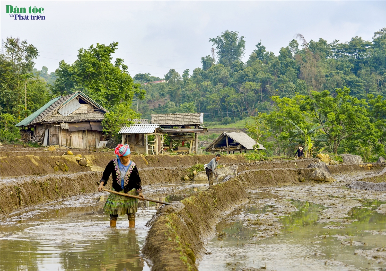
{"label": "open wooden shelter with long brown tiled roof on posts", "polygon": [[205,133],[204,113],[152,114],[151,123],[157,123],[170,136],[169,148],[173,142],[190,141],[191,152],[198,153],[198,133]]}

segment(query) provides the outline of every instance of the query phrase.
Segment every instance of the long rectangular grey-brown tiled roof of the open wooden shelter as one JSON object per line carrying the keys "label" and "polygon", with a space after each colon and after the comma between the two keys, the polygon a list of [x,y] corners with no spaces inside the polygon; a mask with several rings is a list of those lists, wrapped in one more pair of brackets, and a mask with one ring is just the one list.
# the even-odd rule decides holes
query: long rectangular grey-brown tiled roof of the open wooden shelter
{"label": "long rectangular grey-brown tiled roof of the open wooden shelter", "polygon": [[165,126],[195,125],[204,123],[204,113],[151,114],[151,123]]}

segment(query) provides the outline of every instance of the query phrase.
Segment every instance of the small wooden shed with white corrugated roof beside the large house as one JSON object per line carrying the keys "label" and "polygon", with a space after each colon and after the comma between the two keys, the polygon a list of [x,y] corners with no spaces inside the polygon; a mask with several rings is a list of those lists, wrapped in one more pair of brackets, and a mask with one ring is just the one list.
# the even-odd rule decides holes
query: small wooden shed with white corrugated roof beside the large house
{"label": "small wooden shed with white corrugated roof beside the large house", "polygon": [[[165,131],[159,127],[159,124],[123,126],[119,133],[122,134],[122,144],[129,144],[130,150],[134,152],[158,155],[164,151]],[[148,140],[149,135],[154,135],[154,140]]]}

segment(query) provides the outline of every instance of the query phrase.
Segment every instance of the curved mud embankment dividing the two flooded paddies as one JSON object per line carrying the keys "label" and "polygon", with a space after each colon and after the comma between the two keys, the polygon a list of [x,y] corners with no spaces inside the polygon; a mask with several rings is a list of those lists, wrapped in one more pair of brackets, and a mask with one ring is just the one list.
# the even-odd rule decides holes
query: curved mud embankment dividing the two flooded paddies
{"label": "curved mud embankment dividing the two flooded paddies", "polygon": [[[331,167],[334,172],[351,172],[359,166]],[[244,170],[229,181],[211,186],[208,191],[193,194],[173,206],[164,206],[150,222],[151,229],[142,252],[152,262],[153,271],[197,270],[196,257],[202,255],[203,244],[213,234],[215,223],[224,211],[241,203],[240,198],[246,197],[245,189],[309,182],[313,170]]]}

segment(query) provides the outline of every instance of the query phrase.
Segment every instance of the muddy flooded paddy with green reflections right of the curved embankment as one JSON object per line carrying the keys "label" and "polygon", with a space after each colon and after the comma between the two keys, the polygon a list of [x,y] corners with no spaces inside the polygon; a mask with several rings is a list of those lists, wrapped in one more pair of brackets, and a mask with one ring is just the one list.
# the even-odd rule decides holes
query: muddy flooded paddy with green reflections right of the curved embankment
{"label": "muddy flooded paddy with green reflections right of the curved embankment", "polygon": [[199,269],[384,270],[386,194],[347,189],[356,177],[249,191],[217,224]]}

